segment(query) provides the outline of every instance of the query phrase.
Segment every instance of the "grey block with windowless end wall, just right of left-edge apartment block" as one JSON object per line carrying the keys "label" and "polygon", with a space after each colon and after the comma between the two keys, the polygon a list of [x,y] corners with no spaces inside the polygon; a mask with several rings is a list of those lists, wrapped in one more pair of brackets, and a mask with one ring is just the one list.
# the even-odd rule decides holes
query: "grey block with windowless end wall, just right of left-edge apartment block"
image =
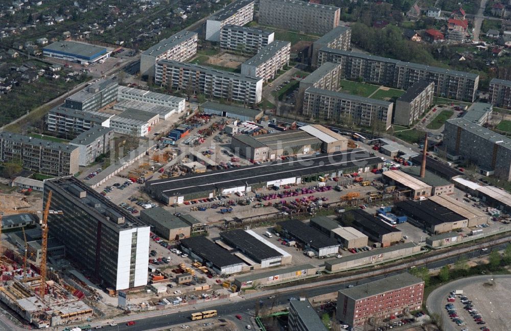
{"label": "grey block with windowless end wall, just right of left-edge apartment block", "polygon": [[69,145],[79,149],[79,166],[88,166],[101,154],[110,151],[110,142],[113,139],[113,129],[96,126],[82,132],[75,139],[69,141]]}

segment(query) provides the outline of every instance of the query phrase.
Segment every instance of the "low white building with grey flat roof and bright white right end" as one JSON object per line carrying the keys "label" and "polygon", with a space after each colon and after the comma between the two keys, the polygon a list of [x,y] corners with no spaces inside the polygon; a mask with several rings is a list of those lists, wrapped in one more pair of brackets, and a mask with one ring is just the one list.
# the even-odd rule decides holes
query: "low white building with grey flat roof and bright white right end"
{"label": "low white building with grey flat roof and bright white right end", "polygon": [[113,116],[110,120],[110,127],[117,133],[144,137],[158,120],[158,114],[129,108],[119,115]]}

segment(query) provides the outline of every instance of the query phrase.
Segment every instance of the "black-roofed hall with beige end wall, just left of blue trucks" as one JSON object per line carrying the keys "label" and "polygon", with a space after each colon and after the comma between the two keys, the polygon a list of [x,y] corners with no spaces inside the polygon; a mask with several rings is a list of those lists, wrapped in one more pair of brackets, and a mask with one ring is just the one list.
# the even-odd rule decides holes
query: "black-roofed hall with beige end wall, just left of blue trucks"
{"label": "black-roofed hall with beige end wall, just left of blue trucks", "polygon": [[366,234],[372,241],[388,247],[402,238],[402,232],[368,212],[355,209],[341,214],[343,224],[353,224],[353,227]]}

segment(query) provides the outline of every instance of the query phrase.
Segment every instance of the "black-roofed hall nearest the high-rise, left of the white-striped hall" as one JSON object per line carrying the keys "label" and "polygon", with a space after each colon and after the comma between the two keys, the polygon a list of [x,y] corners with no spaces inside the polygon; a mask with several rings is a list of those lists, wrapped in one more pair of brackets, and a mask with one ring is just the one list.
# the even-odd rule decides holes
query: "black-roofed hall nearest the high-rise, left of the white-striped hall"
{"label": "black-roofed hall nearest the high-rise, left of the white-striped hall", "polygon": [[[212,241],[199,235],[180,241],[181,250],[188,253],[191,259],[203,263],[219,275],[231,275],[241,272],[245,263]],[[147,259],[147,256],[146,256]]]}

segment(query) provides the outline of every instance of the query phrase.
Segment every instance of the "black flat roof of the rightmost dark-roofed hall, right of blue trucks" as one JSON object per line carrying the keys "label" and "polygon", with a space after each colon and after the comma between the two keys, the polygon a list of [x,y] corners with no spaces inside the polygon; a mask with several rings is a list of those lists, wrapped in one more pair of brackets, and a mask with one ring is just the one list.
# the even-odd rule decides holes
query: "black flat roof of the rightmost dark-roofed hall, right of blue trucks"
{"label": "black flat roof of the rightmost dark-roofed hall, right of blue trucks", "polygon": [[397,202],[396,207],[403,210],[409,217],[430,226],[467,220],[467,218],[432,200],[403,200]]}

